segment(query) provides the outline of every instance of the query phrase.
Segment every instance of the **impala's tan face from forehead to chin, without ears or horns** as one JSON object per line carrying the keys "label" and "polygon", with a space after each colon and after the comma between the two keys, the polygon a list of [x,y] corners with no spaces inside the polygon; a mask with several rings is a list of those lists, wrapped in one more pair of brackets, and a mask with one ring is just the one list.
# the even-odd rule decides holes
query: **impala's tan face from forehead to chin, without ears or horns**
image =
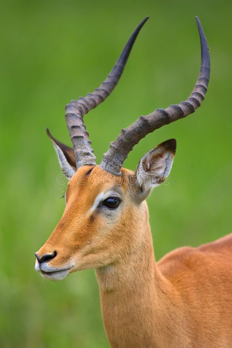
{"label": "impala's tan face from forehead to chin, without ears or horns", "polygon": [[55,255],[36,262],[45,278],[61,279],[70,272],[115,262],[129,237],[133,248],[133,235],[122,233],[128,214],[136,218],[138,210],[136,205],[128,209],[133,194],[126,189],[129,176],[125,171],[115,177],[99,166],[78,169],[68,184],[64,215],[37,253]]}

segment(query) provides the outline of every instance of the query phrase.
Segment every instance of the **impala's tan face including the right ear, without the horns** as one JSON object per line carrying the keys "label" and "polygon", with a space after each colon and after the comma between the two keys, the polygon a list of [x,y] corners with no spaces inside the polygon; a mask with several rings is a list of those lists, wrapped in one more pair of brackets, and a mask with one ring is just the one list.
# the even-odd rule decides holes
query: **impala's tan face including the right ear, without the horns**
{"label": "impala's tan face including the right ear, without the horns", "polygon": [[60,280],[133,253],[147,217],[144,199],[169,174],[175,146],[174,139],[159,145],[142,158],[136,173],[122,168],[115,176],[98,165],[79,168],[69,181],[61,220],[36,253],[36,270]]}

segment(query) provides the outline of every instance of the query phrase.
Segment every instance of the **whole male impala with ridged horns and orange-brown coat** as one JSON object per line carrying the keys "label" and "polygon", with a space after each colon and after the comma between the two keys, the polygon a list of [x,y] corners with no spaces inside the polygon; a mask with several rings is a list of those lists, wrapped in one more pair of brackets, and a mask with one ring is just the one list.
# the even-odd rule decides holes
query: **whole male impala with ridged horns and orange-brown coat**
{"label": "whole male impala with ridged horns and orange-brown coat", "polygon": [[178,105],[140,116],[96,165],[83,116],[116,86],[145,18],[100,88],[66,107],[73,149],[54,139],[70,179],[64,215],[35,254],[36,270],[60,280],[95,268],[105,330],[112,347],[232,347],[232,234],[198,248],[184,247],[156,263],[145,199],[170,173],[176,140],[145,154],[135,172],[122,167],[148,133],[193,113],[209,82],[209,50],[198,20],[201,70],[191,95]]}

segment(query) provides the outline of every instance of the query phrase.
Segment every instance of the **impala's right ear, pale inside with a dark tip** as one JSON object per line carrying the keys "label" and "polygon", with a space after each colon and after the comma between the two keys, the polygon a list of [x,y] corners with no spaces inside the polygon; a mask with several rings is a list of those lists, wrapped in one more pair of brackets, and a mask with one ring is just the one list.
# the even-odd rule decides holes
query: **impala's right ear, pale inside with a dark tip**
{"label": "impala's right ear, pale inside with a dark tip", "polygon": [[157,145],[140,160],[136,170],[136,184],[145,199],[153,187],[159,186],[168,177],[176,153],[176,139]]}

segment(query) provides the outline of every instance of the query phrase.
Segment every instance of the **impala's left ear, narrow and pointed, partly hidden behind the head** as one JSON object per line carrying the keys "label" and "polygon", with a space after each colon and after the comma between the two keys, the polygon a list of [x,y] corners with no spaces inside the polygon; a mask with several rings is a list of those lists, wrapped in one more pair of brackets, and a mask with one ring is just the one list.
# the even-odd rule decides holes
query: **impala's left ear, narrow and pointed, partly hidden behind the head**
{"label": "impala's left ear, narrow and pointed, partly hidden behind the head", "polygon": [[46,133],[54,145],[61,169],[67,178],[71,179],[76,172],[76,160],[73,149],[52,137],[48,128]]}

